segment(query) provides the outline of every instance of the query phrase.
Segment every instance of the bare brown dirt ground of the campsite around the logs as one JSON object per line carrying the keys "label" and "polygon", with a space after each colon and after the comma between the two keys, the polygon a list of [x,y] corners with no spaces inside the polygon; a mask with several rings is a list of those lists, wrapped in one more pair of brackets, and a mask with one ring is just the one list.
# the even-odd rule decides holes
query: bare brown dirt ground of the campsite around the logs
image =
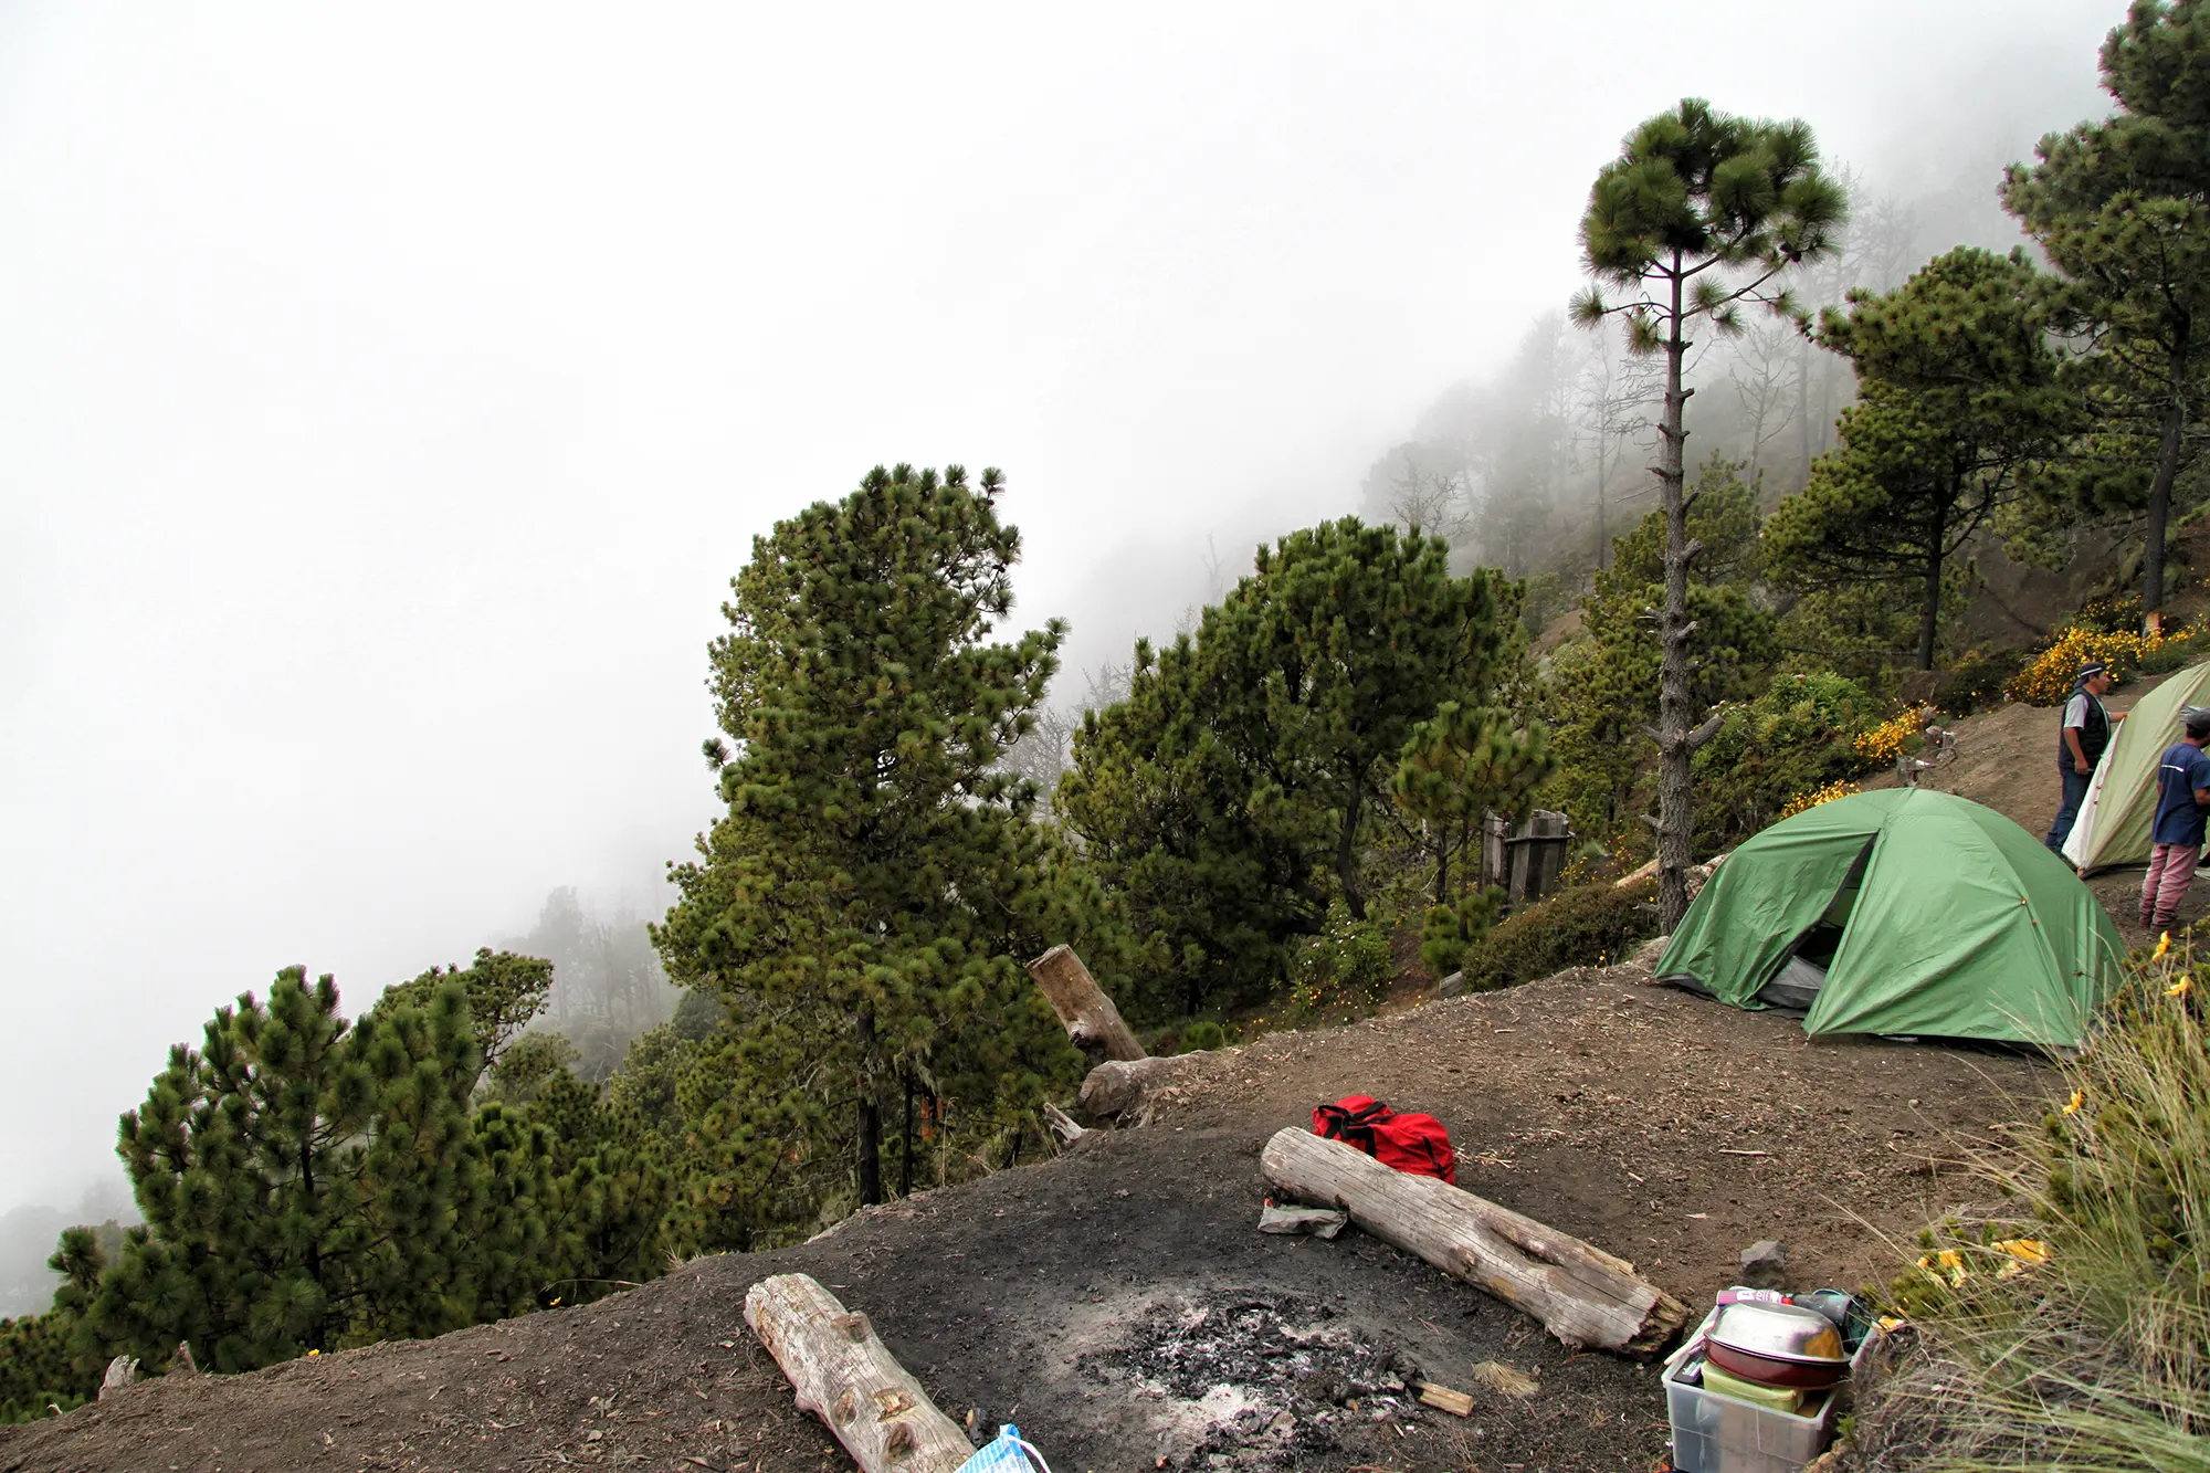
{"label": "bare brown dirt ground of the campsite around the logs", "polygon": [[[1569,1354],[1357,1232],[1262,1236],[1266,1137],[1355,1090],[1434,1110],[1461,1185],[1695,1305],[1766,1236],[1790,1243],[1803,1285],[1881,1274],[1883,1234],[1969,1199],[1971,1141],[2040,1115],[2053,1088],[2013,1055],[1808,1040],[1633,967],[1576,971],[1260,1040],[1147,1128],[1096,1130],[1056,1161],[864,1212],[804,1247],[0,1429],[0,1473],[844,1469],[743,1325],[745,1289],[791,1270],[866,1309],[939,1407],[972,1409],[979,1431],[1017,1420],[1061,1473],[1642,1471],[1666,1435],[1653,1369]],[[1483,1360],[1540,1389],[1481,1389]],[[1472,1389],[1474,1415],[1410,1404],[1414,1371]]]}

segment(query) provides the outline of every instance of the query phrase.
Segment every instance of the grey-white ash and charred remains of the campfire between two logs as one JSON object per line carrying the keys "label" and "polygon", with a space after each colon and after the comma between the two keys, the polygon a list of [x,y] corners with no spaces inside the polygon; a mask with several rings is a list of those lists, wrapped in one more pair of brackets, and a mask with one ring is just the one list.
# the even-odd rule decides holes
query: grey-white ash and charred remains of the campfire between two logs
{"label": "grey-white ash and charred remains of the campfire between two logs", "polygon": [[1147,1402],[1156,1451],[1180,1466],[1299,1466],[1299,1455],[1341,1451],[1346,1435],[1364,1440],[1370,1422],[1421,1420],[1410,1356],[1302,1294],[1220,1289],[1151,1305],[1078,1369]]}

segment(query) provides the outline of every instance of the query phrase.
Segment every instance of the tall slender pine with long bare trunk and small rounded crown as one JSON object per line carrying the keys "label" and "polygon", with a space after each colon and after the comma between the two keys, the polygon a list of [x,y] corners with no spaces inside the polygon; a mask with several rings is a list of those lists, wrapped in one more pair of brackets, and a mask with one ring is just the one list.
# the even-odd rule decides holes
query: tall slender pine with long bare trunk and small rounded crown
{"label": "tall slender pine with long bare trunk and small rounded crown", "polygon": [[[1843,192],[1819,170],[1819,150],[1801,122],[1728,117],[1699,100],[1635,128],[1589,190],[1580,243],[1598,279],[1574,299],[1582,325],[1624,314],[1629,345],[1664,354],[1666,383],[1658,420],[1658,491],[1664,511],[1664,599],[1658,608],[1658,911],[1673,929],[1688,909],[1686,869],[1695,834],[1691,756],[1717,723],[1688,692],[1695,617],[1688,575],[1686,405],[1682,383],[1697,323],[1741,330],[1744,303],[1795,312],[1781,276],[1834,248],[1845,219]],[[1631,296],[1607,303],[1600,288]]]}

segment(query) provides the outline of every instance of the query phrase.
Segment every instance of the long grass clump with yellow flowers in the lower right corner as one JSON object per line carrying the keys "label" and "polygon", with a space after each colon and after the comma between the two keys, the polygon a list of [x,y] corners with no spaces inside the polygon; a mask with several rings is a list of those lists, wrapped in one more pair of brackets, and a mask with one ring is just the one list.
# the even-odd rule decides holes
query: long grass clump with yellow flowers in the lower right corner
{"label": "long grass clump with yellow flowers in the lower right corner", "polygon": [[2128,967],[2069,1095],[1985,1161],[2007,1205],[1920,1239],[1916,1349],[1850,1469],[2210,1471],[2210,967]]}

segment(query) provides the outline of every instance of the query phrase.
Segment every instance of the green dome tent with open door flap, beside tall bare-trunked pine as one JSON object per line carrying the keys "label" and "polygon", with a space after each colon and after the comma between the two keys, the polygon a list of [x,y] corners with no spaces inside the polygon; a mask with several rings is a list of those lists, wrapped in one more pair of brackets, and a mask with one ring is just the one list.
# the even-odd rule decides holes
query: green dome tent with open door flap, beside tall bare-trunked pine
{"label": "green dome tent with open door flap, beside tall bare-trunked pine", "polygon": [[1719,865],[1658,975],[1806,1033],[2077,1046],[2124,947],[2086,885],[1991,807],[1890,787],[1764,829]]}

